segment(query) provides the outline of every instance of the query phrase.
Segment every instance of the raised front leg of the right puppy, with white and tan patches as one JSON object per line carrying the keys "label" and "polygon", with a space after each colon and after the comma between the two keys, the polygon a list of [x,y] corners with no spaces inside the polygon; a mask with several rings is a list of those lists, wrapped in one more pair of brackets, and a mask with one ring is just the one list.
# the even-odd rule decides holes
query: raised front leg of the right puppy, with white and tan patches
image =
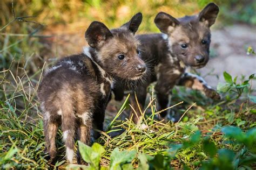
{"label": "raised front leg of the right puppy, with white and tan patches", "polygon": [[196,74],[185,73],[179,80],[178,86],[185,86],[191,89],[202,91],[207,97],[210,97],[214,100],[219,100],[220,95],[209,86],[203,77],[200,77]]}

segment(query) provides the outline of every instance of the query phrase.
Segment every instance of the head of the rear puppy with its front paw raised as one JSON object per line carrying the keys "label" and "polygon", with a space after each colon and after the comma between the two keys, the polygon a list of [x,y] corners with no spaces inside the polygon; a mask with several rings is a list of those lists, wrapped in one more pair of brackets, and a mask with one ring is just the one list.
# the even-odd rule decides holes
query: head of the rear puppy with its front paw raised
{"label": "head of the rear puppy with its front paw raised", "polygon": [[195,16],[174,18],[160,12],[154,19],[159,30],[168,35],[170,51],[186,66],[201,68],[209,60],[210,27],[215,23],[219,8],[210,3]]}

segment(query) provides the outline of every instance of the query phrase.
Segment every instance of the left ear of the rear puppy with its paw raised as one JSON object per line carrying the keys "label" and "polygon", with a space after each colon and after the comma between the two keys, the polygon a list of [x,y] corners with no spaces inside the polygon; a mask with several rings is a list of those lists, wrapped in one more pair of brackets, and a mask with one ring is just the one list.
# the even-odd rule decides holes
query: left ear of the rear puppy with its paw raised
{"label": "left ear of the rear puppy with its paw raised", "polygon": [[174,27],[179,25],[179,21],[176,18],[165,12],[159,12],[156,18],[154,18],[154,23],[157,25],[158,29],[165,34],[170,34]]}

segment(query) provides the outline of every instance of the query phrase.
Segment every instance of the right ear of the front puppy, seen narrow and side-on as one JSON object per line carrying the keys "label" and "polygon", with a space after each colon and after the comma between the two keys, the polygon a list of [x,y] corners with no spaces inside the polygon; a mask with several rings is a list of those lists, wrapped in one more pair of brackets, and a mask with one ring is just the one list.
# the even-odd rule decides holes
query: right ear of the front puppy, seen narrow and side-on
{"label": "right ear of the front puppy, seen narrow and side-on", "polygon": [[134,15],[129,22],[125,23],[121,27],[124,27],[125,29],[135,34],[138,31],[140,23],[142,23],[142,13],[139,12]]}

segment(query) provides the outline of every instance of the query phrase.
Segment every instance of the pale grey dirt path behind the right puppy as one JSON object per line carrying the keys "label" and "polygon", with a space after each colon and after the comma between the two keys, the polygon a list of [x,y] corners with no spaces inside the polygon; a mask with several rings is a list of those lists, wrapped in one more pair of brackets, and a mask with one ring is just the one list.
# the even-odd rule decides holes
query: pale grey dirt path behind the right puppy
{"label": "pale grey dirt path behind the right puppy", "polygon": [[[218,82],[224,82],[223,72],[230,73],[233,77],[251,75],[256,73],[256,56],[246,55],[248,46],[256,49],[256,26],[233,25],[221,30],[212,31],[212,44],[215,57],[211,58],[207,66],[198,71],[205,75],[213,70],[219,76],[206,76],[205,80],[213,87]],[[238,79],[239,80],[239,79]],[[256,81],[253,81],[256,87]]]}

